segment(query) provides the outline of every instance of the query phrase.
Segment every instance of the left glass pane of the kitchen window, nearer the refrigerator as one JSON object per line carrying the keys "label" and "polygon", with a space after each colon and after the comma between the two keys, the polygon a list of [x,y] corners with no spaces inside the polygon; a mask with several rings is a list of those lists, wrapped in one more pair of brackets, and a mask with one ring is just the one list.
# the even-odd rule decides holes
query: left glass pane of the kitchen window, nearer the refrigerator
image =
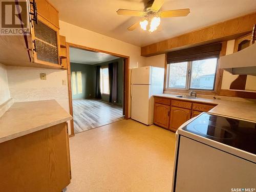
{"label": "left glass pane of the kitchen window, nearer the refrigerator", "polygon": [[169,64],[169,88],[186,88],[187,62]]}

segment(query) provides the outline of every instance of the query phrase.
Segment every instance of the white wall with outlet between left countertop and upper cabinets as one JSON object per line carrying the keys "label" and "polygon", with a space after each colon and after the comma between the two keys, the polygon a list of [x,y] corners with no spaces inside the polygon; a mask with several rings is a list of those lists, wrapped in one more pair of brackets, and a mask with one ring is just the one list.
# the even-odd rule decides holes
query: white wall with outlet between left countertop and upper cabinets
{"label": "white wall with outlet between left countertop and upper cabinets", "polygon": [[[46,73],[46,80],[40,73]],[[7,76],[14,102],[55,99],[69,113],[67,70],[7,66]]]}

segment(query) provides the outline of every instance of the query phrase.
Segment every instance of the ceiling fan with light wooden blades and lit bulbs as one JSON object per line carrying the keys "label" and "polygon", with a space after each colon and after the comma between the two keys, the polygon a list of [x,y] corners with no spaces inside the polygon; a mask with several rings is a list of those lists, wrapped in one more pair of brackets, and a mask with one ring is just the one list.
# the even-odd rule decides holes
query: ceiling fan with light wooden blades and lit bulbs
{"label": "ceiling fan with light wooden blades and lit bulbs", "polygon": [[[146,31],[154,32],[157,30],[160,25],[161,19],[160,17],[180,17],[187,16],[190,13],[189,9],[178,9],[178,10],[169,10],[169,11],[159,11],[163,6],[164,0],[149,0],[146,4],[144,11],[136,11],[129,9],[118,9],[118,15],[129,15],[129,16],[138,16],[145,17],[141,19],[139,22],[133,24],[129,28],[129,31],[133,31],[139,25],[140,27]],[[150,24],[150,25],[148,25]]]}

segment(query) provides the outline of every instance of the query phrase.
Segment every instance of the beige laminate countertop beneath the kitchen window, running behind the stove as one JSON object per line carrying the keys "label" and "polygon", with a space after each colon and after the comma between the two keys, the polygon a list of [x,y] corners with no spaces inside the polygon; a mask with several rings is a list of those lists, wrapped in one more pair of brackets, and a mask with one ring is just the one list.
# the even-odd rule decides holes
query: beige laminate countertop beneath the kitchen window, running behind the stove
{"label": "beige laminate countertop beneath the kitchen window, running behind the stove", "polygon": [[213,109],[211,109],[207,113],[256,122],[256,102],[242,102],[242,101],[230,101],[230,100],[224,100],[224,99],[206,99],[206,98],[196,98],[196,99],[177,98],[178,95],[172,95],[167,93],[154,95],[154,96],[178,99],[178,100],[190,101],[190,102],[217,104],[217,106],[215,106]]}

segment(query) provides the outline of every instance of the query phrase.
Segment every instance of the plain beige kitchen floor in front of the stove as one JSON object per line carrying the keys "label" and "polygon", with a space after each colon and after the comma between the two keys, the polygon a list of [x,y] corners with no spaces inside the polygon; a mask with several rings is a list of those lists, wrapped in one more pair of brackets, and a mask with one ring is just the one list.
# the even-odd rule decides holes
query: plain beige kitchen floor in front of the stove
{"label": "plain beige kitchen floor in front of the stove", "polygon": [[169,192],[175,133],[132,119],[70,138],[71,183],[66,192]]}

